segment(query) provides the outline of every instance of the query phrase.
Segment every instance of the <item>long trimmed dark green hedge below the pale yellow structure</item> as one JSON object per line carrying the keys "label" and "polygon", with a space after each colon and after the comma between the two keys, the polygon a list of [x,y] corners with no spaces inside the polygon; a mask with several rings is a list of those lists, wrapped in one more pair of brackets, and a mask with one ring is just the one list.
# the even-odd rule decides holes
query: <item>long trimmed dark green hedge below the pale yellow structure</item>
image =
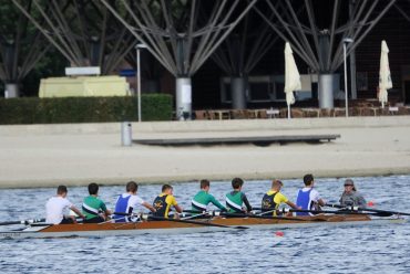
{"label": "long trimmed dark green hedge below the pale yellow structure", "polygon": [[[171,120],[173,99],[166,94],[143,94],[142,120]],[[61,124],[134,122],[136,97],[0,98],[0,124]]]}

